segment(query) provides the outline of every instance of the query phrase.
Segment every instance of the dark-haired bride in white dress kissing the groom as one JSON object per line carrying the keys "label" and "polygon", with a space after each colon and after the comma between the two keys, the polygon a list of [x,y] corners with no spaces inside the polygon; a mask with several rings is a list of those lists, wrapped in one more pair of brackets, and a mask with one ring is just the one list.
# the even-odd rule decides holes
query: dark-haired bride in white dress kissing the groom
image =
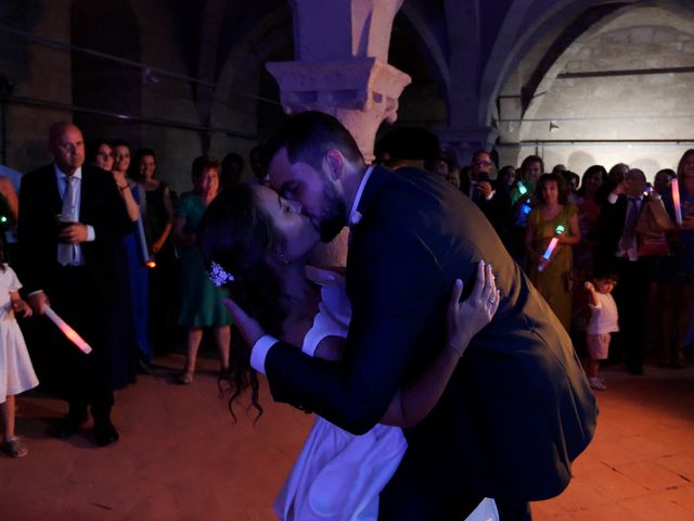
{"label": "dark-haired bride in white dress kissing the groom", "polygon": [[[262,186],[230,188],[206,209],[198,245],[210,267],[210,279],[229,288],[233,302],[268,333],[331,364],[343,358],[351,316],[345,279],[306,265],[320,238],[295,204]],[[497,310],[491,266],[479,263],[472,293],[460,302],[462,290],[457,280],[446,316],[446,346],[416,381],[398,390],[381,423],[354,435],[316,418],[275,501],[280,519],[377,519],[378,494],[407,450],[402,428],[415,425],[434,408],[471,338]],[[233,380],[231,401],[250,382],[253,405],[261,412],[257,377],[247,358],[234,367]],[[489,498],[467,518],[489,519],[498,519]]]}

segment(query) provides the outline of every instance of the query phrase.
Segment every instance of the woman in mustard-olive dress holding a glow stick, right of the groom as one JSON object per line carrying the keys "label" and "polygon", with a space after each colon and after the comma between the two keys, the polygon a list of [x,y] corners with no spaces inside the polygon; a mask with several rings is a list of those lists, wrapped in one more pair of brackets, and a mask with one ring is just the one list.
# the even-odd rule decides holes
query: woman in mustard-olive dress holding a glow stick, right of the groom
{"label": "woman in mustard-olive dress holding a glow stick, right of the groom", "polygon": [[[578,208],[566,201],[563,179],[544,174],[537,186],[538,205],[528,215],[525,247],[528,254],[527,274],[530,281],[554,310],[566,331],[571,325],[571,245],[580,241]],[[544,253],[556,238],[556,245],[545,258]]]}

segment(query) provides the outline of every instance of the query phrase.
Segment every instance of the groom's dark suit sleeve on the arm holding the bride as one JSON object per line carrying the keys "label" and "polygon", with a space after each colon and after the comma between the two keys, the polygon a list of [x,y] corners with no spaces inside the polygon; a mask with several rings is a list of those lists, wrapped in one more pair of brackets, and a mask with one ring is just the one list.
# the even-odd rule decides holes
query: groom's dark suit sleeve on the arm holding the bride
{"label": "groom's dark suit sleeve on the arm holding the bride", "polygon": [[[265,368],[275,401],[316,411],[359,434],[385,412],[432,313],[440,313],[444,330],[439,309],[448,282],[425,243],[393,227],[370,232],[358,253],[350,254],[348,284],[349,277],[355,279],[346,358],[309,358],[279,342]],[[438,341],[430,347],[437,346]]]}

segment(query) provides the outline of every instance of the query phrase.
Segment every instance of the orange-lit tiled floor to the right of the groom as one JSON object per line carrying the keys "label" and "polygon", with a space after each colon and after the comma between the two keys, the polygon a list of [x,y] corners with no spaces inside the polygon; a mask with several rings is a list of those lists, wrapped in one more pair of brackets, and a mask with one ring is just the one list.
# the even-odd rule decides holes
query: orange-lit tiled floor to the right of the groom
{"label": "orange-lit tiled floor to the right of the groom", "polygon": [[604,371],[595,440],[538,520],[694,520],[694,370]]}

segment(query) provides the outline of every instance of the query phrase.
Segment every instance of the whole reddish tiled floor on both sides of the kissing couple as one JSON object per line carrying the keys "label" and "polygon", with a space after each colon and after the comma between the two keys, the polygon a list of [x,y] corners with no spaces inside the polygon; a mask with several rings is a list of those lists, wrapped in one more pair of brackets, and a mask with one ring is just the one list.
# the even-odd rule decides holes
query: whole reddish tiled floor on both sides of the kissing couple
{"label": "whole reddish tiled floor on both sides of the kissing couple", "polygon": [[[181,357],[157,360],[180,367]],[[63,403],[35,393],[20,401],[17,431],[30,454],[0,456],[0,519],[266,520],[312,418],[273,404],[254,425],[234,423],[214,377],[215,363],[190,386],[162,369],[117,395],[121,440],[94,447],[85,430],[48,435]],[[558,497],[532,505],[544,520],[694,520],[694,366],[646,366],[643,377],[604,371],[594,442]]]}

